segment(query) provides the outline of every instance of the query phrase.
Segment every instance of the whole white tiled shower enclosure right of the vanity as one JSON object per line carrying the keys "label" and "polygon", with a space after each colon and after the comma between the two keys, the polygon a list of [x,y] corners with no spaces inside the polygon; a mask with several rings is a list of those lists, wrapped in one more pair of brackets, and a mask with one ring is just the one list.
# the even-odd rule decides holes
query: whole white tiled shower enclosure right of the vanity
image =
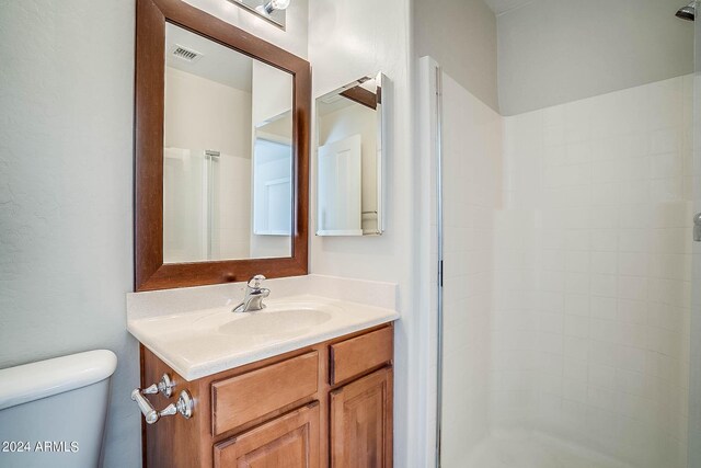
{"label": "whole white tiled shower enclosure right of the vanity", "polygon": [[421,70],[436,466],[701,467],[698,69],[512,116]]}

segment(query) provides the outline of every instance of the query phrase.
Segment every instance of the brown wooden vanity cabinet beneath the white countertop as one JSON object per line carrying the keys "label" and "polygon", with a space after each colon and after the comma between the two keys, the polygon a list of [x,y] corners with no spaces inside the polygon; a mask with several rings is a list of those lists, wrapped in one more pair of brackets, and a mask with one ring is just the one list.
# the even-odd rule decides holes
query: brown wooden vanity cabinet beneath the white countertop
{"label": "brown wooden vanity cabinet beneath the white countertop", "polygon": [[169,374],[188,420],[143,423],[148,468],[391,468],[393,326],[187,381],[141,346],[141,385]]}

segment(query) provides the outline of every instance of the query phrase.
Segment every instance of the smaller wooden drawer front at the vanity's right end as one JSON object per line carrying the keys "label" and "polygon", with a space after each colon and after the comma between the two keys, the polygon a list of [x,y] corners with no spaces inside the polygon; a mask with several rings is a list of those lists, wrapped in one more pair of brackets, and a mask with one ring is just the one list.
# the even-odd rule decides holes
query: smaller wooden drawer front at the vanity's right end
{"label": "smaller wooden drawer front at the vanity's right end", "polygon": [[329,346],[331,385],[391,362],[393,338],[392,327],[387,327]]}

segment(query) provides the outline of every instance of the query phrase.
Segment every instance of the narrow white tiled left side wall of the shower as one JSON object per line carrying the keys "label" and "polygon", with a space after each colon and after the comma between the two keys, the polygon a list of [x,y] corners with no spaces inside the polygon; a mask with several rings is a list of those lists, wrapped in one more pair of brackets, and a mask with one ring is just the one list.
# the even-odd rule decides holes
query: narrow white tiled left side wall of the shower
{"label": "narrow white tiled left side wall of the shower", "polygon": [[441,458],[464,465],[490,432],[494,213],[502,117],[443,76],[444,393]]}

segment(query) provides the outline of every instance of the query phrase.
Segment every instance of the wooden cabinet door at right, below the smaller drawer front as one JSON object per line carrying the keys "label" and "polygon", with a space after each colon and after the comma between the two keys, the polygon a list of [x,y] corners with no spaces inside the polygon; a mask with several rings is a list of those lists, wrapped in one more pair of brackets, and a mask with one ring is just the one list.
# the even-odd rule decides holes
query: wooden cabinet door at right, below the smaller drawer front
{"label": "wooden cabinet door at right, below the smaller drawer front", "polygon": [[331,466],[391,468],[391,367],[331,392]]}

